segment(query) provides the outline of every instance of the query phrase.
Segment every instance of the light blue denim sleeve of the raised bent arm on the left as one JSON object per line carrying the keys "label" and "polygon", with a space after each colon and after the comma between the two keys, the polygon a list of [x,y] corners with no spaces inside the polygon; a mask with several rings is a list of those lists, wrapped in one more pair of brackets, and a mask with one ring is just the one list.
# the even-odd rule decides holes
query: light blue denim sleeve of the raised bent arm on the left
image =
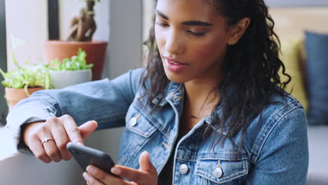
{"label": "light blue denim sleeve of the raised bent arm on the left", "polygon": [[144,69],[135,69],[112,81],[103,79],[63,89],[39,90],[20,101],[7,116],[18,149],[23,147],[21,130],[28,123],[46,121],[50,116],[69,114],[78,125],[95,120],[97,129],[125,125],[125,114],[132,103]]}

